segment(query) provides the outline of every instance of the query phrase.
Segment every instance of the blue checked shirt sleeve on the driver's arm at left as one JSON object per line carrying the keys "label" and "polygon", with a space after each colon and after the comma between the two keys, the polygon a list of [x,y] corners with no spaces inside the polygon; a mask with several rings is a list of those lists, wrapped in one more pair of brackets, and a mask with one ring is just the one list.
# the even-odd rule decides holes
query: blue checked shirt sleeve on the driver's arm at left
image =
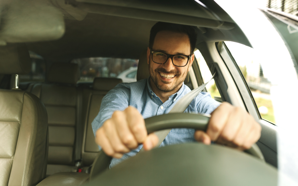
{"label": "blue checked shirt sleeve on the driver's arm at left", "polygon": [[100,111],[94,118],[92,130],[96,137],[96,131],[99,129],[105,120],[110,119],[116,110],[123,111],[128,107],[129,103],[129,89],[120,85],[117,85],[114,89],[110,90],[101,101]]}

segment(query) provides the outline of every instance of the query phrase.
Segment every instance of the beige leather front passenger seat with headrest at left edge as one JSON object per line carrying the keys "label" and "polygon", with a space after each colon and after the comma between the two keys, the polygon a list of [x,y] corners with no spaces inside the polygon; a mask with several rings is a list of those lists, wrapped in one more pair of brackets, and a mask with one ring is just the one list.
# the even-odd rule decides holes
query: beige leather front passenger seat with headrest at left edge
{"label": "beige leather front passenger seat with headrest at left edge", "polygon": [[[0,74],[30,72],[25,44],[0,47],[0,60]],[[36,185],[46,176],[46,109],[22,90],[0,90],[0,103],[0,185]]]}

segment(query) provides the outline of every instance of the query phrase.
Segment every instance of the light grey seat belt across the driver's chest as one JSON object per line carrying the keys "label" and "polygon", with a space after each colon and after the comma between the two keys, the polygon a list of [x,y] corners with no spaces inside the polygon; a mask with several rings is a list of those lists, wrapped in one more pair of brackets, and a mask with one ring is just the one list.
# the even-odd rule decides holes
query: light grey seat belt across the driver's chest
{"label": "light grey seat belt across the driver's chest", "polygon": [[[212,76],[211,80],[215,77],[215,74],[216,74],[216,72]],[[198,96],[198,94],[206,87],[206,85],[211,80],[209,80],[208,82],[206,82],[203,85],[199,86],[198,88],[193,89],[189,93],[185,94],[182,98],[179,99],[179,101],[177,101],[177,103],[173,106],[173,108],[170,110],[169,113],[184,112],[187,109],[187,107],[189,106],[189,104],[193,101],[193,99],[196,96]],[[164,141],[164,139],[166,138],[166,136],[168,135],[168,133],[171,130],[172,129],[170,128],[170,129],[165,129],[165,130],[154,132],[156,134],[156,136],[158,137],[158,140],[159,140],[158,145],[156,145],[156,147],[159,147],[159,145],[162,144],[162,142]],[[144,151],[143,147],[139,152],[142,152],[142,151]]]}

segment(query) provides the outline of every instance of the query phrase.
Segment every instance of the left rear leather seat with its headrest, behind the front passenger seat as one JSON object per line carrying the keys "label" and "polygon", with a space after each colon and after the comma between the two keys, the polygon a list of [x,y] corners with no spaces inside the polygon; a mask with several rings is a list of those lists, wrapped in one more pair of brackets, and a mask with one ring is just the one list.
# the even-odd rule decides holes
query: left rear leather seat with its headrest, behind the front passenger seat
{"label": "left rear leather seat with its headrest, behind the front passenger seat", "polygon": [[81,160],[82,90],[76,87],[79,78],[77,64],[54,63],[48,73],[48,83],[32,87],[31,92],[41,99],[48,113],[47,175],[76,171],[75,165]]}

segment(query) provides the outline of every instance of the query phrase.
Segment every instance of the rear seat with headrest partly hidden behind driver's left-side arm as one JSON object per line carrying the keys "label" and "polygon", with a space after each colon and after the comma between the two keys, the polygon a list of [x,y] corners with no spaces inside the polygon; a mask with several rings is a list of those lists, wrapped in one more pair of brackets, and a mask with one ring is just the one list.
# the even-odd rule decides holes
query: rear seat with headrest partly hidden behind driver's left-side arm
{"label": "rear seat with headrest partly hidden behind driver's left-side arm", "polygon": [[84,94],[88,94],[88,106],[86,111],[85,129],[82,145],[82,162],[83,166],[90,166],[99,148],[94,141],[94,134],[91,123],[100,110],[100,104],[103,97],[109,90],[113,89],[117,84],[121,83],[121,79],[116,78],[94,78],[93,89],[85,90]]}

